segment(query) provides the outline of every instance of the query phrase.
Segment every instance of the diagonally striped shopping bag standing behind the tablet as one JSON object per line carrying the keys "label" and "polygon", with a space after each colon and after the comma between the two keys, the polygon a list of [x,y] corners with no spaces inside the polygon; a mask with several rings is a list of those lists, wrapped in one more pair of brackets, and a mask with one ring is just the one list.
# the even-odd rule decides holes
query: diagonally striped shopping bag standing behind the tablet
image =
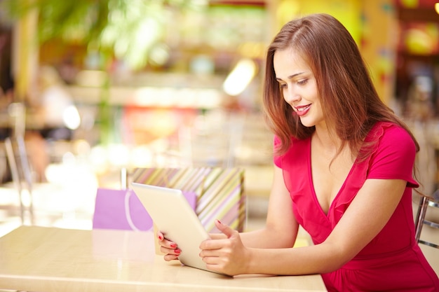
{"label": "diagonally striped shopping bag standing behind the tablet", "polygon": [[215,219],[242,232],[247,219],[244,170],[231,167],[137,168],[133,181],[194,191],[196,214],[208,232],[217,232]]}

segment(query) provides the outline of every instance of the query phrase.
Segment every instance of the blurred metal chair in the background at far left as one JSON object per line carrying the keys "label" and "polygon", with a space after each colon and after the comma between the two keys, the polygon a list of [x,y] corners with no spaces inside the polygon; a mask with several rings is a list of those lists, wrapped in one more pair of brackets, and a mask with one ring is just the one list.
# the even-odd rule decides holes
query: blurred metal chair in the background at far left
{"label": "blurred metal chair in the background at far left", "polygon": [[27,160],[25,141],[22,136],[7,137],[5,139],[6,156],[8,157],[9,167],[15,189],[18,191],[20,200],[20,218],[22,223],[25,221],[25,204],[23,195],[27,191],[29,195],[29,216],[34,223],[34,206],[32,198],[32,173]]}

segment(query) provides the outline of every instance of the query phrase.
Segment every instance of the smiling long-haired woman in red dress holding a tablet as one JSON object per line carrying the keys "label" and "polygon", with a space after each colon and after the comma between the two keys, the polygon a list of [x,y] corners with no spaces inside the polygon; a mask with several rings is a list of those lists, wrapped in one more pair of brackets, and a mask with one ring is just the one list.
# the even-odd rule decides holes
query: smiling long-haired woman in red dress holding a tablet
{"label": "smiling long-haired woman in red dress holding a tablet", "polygon": [[[379,99],[355,41],[330,15],[288,22],[266,57],[264,106],[274,134],[266,227],[200,246],[225,274],[322,274],[328,291],[439,291],[414,239],[419,151]],[[312,246],[292,249],[299,225]],[[180,249],[158,232],[166,260]]]}

